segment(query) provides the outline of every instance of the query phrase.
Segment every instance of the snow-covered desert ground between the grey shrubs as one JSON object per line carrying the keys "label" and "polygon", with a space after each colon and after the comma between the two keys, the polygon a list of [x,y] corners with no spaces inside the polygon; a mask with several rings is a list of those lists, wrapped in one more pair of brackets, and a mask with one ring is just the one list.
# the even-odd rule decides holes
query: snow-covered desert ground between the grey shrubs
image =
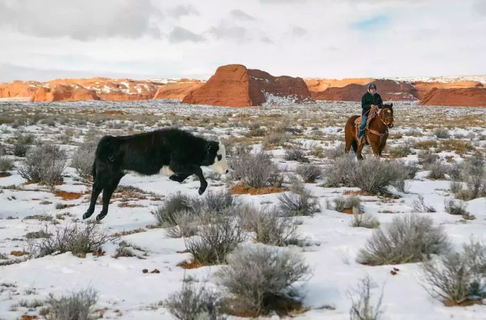
{"label": "snow-covered desert ground between the grey shrubs", "polygon": [[[451,139],[469,143],[476,152],[485,154],[486,109],[401,104],[395,105],[394,109],[395,127],[390,130],[388,141],[392,147],[414,145],[419,141],[437,141],[433,130],[436,127],[451,127]],[[256,126],[269,131],[278,125],[285,125],[293,129],[289,130],[292,137],[285,147],[301,146],[311,163],[325,168],[330,160],[317,156],[315,150],[319,147],[324,150],[334,148],[342,143],[346,119],[359,110],[358,103],[323,101],[285,107],[268,105],[234,109],[181,105],[177,100],[0,103],[3,123],[0,124],[0,142],[10,150],[19,132],[33,134],[35,139],[62,145],[71,157],[78,143],[90,134],[128,134],[177,125],[206,136],[235,139],[258,149],[262,148],[262,136],[251,136],[248,134],[249,128]],[[12,121],[5,120],[8,118]],[[40,120],[33,123],[33,118]],[[271,152],[280,167],[290,172],[296,168],[295,161],[285,161],[283,158],[285,148],[265,149]],[[473,152],[469,150],[467,154],[458,154],[458,150],[447,150],[446,147],[436,149],[437,154],[448,161],[461,161],[461,157]],[[417,150],[412,148],[403,159],[417,161],[416,153]],[[21,166],[22,158],[7,157],[13,159],[17,167]],[[53,222],[62,226],[81,220],[91,190],[90,184],[78,179],[76,171],[70,167],[65,170],[63,184],[56,186],[56,191],[80,193],[78,199],[62,199],[45,186],[26,184],[15,169],[10,174],[0,177],[0,263],[14,260],[15,256],[10,254],[12,251],[28,251],[27,233],[40,231],[46,225],[52,228]],[[305,292],[303,303],[309,310],[297,315],[296,319],[349,319],[351,300],[348,292],[365,275],[379,285],[377,295],[383,287],[383,319],[486,319],[485,305],[446,307],[439,299],[429,296],[422,287],[420,263],[377,267],[357,263],[358,251],[364,247],[373,229],[353,228],[350,226],[351,215],[326,208],[326,202],[340,195],[346,196],[346,191],[356,189],[324,188],[322,184],[325,179],[319,179],[315,184],[305,184],[305,188],[317,197],[320,211],[310,217],[297,218],[301,222],[297,231],[312,245],[291,249],[303,255],[312,269],[312,276],[302,284]],[[226,188],[224,181],[208,179],[208,182],[208,190]],[[414,179],[405,182],[407,193],[399,193],[398,199],[362,196],[362,210],[374,215],[382,226],[386,226],[394,217],[412,213],[413,203],[421,195],[426,204],[433,206],[437,212],[419,214],[443,226],[455,249],[460,250],[462,243],[471,236],[486,241],[486,198],[467,202],[467,210],[476,217],[474,220],[449,215],[444,209],[444,199],[451,197],[450,183],[451,180],[428,179],[427,172],[419,170]],[[209,287],[216,287],[214,274],[221,266],[196,269],[178,267],[179,263],[191,258],[188,253],[178,253],[185,250],[184,240],[170,238],[164,229],[151,228],[156,224],[151,214],[153,209],[164,204],[168,195],[179,190],[195,196],[199,181],[190,177],[187,182],[178,184],[158,175],[126,175],[120,185],[135,186],[151,194],[146,199],[129,201],[133,206],[120,206],[123,203],[121,197],[115,196],[100,227],[108,233],[135,233],[121,235],[119,240],[104,245],[104,256],[88,254],[86,258],[78,258],[68,252],[0,266],[0,319],[19,319],[23,314],[38,315],[42,308],[28,310],[15,306],[19,301],[44,301],[49,294],[60,296],[87,287],[99,292],[96,309],[103,312],[103,318],[174,319],[159,302],[181,288],[184,276],[207,280]],[[239,197],[242,202],[255,206],[278,202],[278,194]],[[56,209],[58,204],[73,206]],[[95,213],[100,209],[101,206],[97,205]],[[52,220],[45,222],[29,218],[33,215],[47,215]],[[113,258],[121,240],[141,247],[147,256],[143,259]],[[399,274],[390,274],[393,267],[400,269]],[[158,269],[160,273],[144,274],[142,269]]]}

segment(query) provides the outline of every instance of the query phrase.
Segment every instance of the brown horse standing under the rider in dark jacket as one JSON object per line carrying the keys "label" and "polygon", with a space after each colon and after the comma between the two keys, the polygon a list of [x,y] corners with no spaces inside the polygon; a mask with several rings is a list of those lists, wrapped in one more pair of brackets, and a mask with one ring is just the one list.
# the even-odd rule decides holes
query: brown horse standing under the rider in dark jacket
{"label": "brown horse standing under the rider in dark jacket", "polygon": [[[371,113],[371,111],[370,111]],[[393,127],[393,104],[383,105],[378,114],[369,121],[368,127],[364,130],[364,139],[362,143],[359,143],[358,132],[359,128],[356,126],[355,121],[359,116],[351,116],[346,122],[344,128],[344,138],[346,139],[346,153],[351,150],[358,157],[359,160],[363,159],[361,150],[364,144],[371,145],[373,154],[377,157],[381,156],[381,152],[387,143],[388,128]]]}

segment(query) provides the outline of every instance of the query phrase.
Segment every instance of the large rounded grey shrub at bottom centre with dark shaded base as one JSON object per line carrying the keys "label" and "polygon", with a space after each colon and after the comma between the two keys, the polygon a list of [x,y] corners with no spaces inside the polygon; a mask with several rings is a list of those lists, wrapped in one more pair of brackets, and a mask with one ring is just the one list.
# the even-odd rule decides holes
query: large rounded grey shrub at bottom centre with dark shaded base
{"label": "large rounded grey shrub at bottom centre with dark shaded base", "polygon": [[228,312],[247,317],[269,312],[284,315],[291,306],[300,307],[301,294],[294,285],[309,275],[301,256],[261,245],[240,247],[216,274],[219,285],[231,294]]}

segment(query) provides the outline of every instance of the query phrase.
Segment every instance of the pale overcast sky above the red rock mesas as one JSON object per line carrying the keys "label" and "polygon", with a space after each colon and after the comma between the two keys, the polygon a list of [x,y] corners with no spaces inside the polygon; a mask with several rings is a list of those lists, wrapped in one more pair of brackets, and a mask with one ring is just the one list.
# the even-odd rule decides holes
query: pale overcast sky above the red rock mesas
{"label": "pale overcast sky above the red rock mesas", "polygon": [[0,81],[486,74],[486,0],[0,0]]}

